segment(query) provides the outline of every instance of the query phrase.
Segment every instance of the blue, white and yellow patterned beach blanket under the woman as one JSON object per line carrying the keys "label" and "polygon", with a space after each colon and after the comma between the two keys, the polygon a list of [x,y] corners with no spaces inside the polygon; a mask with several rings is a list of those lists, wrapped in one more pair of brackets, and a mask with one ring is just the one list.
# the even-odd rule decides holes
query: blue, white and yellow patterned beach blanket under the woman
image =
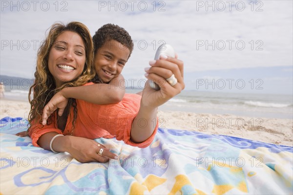
{"label": "blue, white and yellow patterned beach blanket under the woman", "polygon": [[23,118],[0,120],[0,193],[293,194],[293,148],[159,128],[144,149],[96,139],[119,160],[80,163],[32,146]]}

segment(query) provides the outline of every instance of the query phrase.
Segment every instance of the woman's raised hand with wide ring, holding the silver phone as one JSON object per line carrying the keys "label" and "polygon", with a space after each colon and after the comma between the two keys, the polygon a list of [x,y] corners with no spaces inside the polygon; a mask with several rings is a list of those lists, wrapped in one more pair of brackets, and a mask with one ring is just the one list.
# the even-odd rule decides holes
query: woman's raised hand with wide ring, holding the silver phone
{"label": "woman's raised hand with wide ring, holding the silver phone", "polygon": [[[185,88],[183,80],[183,61],[171,57],[165,59],[161,56],[158,60],[150,61],[150,66],[149,69],[146,69],[145,76],[157,83],[160,90],[152,89],[147,81],[145,89],[143,90],[142,104],[150,108],[155,108],[164,104],[167,100],[173,98]],[[171,86],[166,80],[170,78],[172,74],[174,74],[178,81],[174,86]]]}

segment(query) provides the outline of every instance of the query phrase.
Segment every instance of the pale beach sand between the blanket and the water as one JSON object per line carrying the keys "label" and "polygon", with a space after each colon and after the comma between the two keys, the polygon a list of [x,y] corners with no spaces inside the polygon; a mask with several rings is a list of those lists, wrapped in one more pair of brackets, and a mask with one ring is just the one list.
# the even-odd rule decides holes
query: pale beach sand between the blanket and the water
{"label": "pale beach sand between the blanket and the water", "polygon": [[[0,118],[27,118],[28,102],[1,98]],[[227,135],[293,146],[293,119],[252,118],[233,115],[195,114],[178,111],[158,111],[159,127]]]}

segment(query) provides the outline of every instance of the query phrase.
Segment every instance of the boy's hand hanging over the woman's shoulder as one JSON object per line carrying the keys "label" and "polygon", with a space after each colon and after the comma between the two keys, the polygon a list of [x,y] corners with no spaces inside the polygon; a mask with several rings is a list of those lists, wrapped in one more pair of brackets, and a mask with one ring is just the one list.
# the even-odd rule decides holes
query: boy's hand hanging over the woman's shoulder
{"label": "boy's hand hanging over the woman's shoulder", "polygon": [[62,90],[56,93],[43,109],[42,125],[47,124],[48,117],[59,108],[58,115],[63,115],[64,109],[68,103],[68,99],[64,97]]}

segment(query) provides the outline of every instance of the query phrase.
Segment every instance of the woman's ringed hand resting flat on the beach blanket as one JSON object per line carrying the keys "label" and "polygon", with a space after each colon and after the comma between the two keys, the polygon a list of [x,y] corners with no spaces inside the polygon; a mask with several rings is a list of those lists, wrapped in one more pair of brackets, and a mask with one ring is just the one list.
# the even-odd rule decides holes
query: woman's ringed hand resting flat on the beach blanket
{"label": "woman's ringed hand resting flat on the beach blanket", "polygon": [[[85,162],[107,162],[110,158],[118,159],[118,156],[111,153],[104,145],[97,143],[95,140],[84,137],[70,136],[68,152],[78,161]],[[101,148],[104,150],[102,156],[99,155]],[[54,149],[54,146],[53,146]]]}

